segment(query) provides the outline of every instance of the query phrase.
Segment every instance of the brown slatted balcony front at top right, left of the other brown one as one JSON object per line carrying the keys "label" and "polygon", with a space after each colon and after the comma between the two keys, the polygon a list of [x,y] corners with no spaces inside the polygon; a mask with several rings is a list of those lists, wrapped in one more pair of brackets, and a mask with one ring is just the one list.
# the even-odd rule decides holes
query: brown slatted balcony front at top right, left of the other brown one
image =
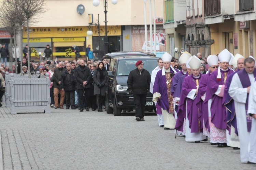
{"label": "brown slatted balcony front at top right, left of the other brown one", "polygon": [[221,14],[221,0],[204,0],[205,16]]}

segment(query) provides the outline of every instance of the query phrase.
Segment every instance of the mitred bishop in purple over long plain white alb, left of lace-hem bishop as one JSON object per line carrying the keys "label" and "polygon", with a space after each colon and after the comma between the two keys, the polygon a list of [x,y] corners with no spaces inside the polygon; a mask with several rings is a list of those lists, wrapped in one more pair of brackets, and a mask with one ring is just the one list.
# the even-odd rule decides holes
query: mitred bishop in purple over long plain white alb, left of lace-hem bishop
{"label": "mitred bishop in purple over long plain white alb, left of lace-hem bishop", "polygon": [[[192,74],[184,78],[182,85],[181,97],[178,115],[183,115],[186,119],[186,141],[195,141],[199,143],[201,140],[207,141],[206,136],[203,135],[203,114],[196,106],[196,98],[199,96],[198,87],[202,74],[200,73],[201,61],[198,57],[193,56],[188,65],[192,69]],[[184,119],[181,119],[183,122]],[[176,130],[183,131],[183,126],[176,128]]]}

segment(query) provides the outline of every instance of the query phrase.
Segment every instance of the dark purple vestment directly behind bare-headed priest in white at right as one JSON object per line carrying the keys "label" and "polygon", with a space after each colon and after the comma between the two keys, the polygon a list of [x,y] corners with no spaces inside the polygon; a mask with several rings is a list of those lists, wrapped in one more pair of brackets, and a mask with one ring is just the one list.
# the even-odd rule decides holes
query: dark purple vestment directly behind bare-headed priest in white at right
{"label": "dark purple vestment directly behind bare-headed priest in white at right", "polygon": [[227,122],[227,130],[228,130],[229,135],[231,133],[231,125],[235,129],[234,133],[238,135],[237,118],[236,118],[236,112],[235,112],[235,108],[234,108],[234,100],[228,94],[231,80],[232,80],[234,74],[236,74],[238,71],[239,70],[237,69],[235,72],[233,72],[232,74],[230,74],[227,77],[227,83],[225,84],[225,91],[224,91],[224,96],[226,96],[225,101],[224,101],[224,106],[227,108],[226,122]]}

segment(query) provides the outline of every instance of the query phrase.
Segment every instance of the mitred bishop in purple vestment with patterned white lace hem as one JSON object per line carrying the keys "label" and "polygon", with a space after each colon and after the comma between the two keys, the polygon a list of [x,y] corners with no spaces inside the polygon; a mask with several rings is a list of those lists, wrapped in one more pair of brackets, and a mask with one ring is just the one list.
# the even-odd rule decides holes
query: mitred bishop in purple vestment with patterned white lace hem
{"label": "mitred bishop in purple vestment with patterned white lace hem", "polygon": [[218,58],[220,67],[210,75],[204,102],[211,103],[211,106],[208,105],[208,107],[210,106],[209,114],[211,114],[211,138],[214,137],[212,142],[217,143],[219,148],[223,148],[227,147],[226,108],[223,102],[223,95],[227,77],[233,73],[233,70],[228,68],[231,54],[227,49],[219,53]]}

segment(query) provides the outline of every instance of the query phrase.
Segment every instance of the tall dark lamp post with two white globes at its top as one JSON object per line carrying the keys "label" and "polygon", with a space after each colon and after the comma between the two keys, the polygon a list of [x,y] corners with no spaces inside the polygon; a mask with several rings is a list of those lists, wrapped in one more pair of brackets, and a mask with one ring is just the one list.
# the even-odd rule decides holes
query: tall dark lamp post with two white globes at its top
{"label": "tall dark lamp post with two white globes at its top", "polygon": [[[104,36],[104,55],[108,53],[108,48],[109,48],[109,41],[108,41],[108,30],[107,30],[107,19],[106,19],[106,14],[108,13],[108,0],[103,0],[104,1],[104,13],[105,13],[105,36]],[[111,0],[112,4],[117,4],[117,0]],[[93,0],[93,5],[94,6],[99,6],[100,2],[99,0]]]}

